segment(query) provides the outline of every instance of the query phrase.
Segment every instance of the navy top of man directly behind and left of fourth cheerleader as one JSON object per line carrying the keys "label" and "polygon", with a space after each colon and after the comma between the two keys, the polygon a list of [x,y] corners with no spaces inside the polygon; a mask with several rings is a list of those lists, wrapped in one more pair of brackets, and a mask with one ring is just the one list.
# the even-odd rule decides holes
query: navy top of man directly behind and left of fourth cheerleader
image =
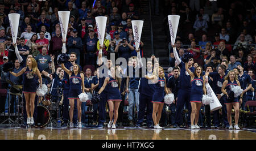
{"label": "navy top of man directly behind and left of fourth cheerleader", "polygon": [[[151,76],[152,75],[152,71],[148,72],[146,70],[146,74],[147,76]],[[141,78],[141,82],[139,84],[139,94],[143,94],[149,97],[152,97],[154,94],[154,84],[150,84],[150,81],[148,81],[148,79],[146,79],[146,77],[142,77]]]}

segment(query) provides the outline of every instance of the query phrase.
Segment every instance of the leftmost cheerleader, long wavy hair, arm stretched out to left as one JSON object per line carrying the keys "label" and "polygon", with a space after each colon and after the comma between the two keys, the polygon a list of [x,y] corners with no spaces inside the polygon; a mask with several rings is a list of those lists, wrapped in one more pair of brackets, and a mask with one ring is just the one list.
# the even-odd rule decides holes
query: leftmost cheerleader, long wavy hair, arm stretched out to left
{"label": "leftmost cheerleader, long wavy hair, arm stretched out to left", "polygon": [[10,71],[13,76],[23,76],[23,93],[26,100],[26,111],[27,111],[27,124],[34,124],[34,110],[35,110],[35,97],[36,97],[36,86],[40,82],[40,88],[42,87],[42,77],[40,71],[38,70],[38,63],[36,63],[34,58],[27,58],[26,67],[22,68],[18,73]]}

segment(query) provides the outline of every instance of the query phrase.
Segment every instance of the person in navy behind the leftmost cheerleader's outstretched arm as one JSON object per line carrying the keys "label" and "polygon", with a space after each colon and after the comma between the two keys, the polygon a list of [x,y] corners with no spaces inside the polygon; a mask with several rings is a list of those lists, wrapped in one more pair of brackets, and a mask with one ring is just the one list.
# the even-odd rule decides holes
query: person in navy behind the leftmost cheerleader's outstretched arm
{"label": "person in navy behind the leftmost cheerleader's outstretched arm", "polygon": [[[13,72],[18,73],[20,70],[22,70],[22,67],[20,67],[20,63],[19,63],[18,59],[16,59],[15,62],[14,62]],[[20,75],[20,76],[16,77],[16,76],[11,75],[9,72],[7,72],[6,78],[9,79],[10,81],[12,81],[14,85],[21,85],[22,84],[22,79],[23,79],[22,76],[23,75]],[[9,84],[9,86],[10,86],[10,84]],[[15,113],[15,109],[16,109],[15,105],[16,105],[17,99],[16,99],[16,96],[13,95],[13,94],[17,94],[17,93],[21,93],[21,92],[14,89],[13,87],[10,89],[10,92],[11,92],[11,96],[10,96],[11,109],[10,109],[10,111],[11,111],[11,113],[13,113],[13,112]]]}

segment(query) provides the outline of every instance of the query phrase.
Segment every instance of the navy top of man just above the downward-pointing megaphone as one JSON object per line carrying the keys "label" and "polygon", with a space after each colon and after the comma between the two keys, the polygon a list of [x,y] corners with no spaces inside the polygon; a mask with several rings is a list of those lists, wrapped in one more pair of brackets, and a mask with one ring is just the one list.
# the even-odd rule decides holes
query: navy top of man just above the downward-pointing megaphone
{"label": "navy top of man just above the downward-pointing megaphone", "polygon": [[223,77],[221,77],[220,74],[218,74],[217,72],[210,72],[209,76],[213,79],[213,91],[216,94],[221,94],[221,87],[223,82],[225,81],[224,77],[226,76],[226,74]]}

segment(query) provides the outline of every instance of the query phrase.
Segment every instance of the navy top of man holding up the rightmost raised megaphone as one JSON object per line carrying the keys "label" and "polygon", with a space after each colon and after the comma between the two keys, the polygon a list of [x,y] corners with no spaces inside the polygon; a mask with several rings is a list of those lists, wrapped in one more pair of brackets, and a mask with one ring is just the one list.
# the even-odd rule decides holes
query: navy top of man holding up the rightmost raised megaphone
{"label": "navy top of man holding up the rightmost raised megaphone", "polygon": [[[180,62],[179,64],[180,67],[180,83],[179,83],[179,88],[183,90],[188,90],[191,91],[191,76],[188,74],[185,68],[185,63]],[[195,71],[194,67],[189,68],[191,72]]]}

